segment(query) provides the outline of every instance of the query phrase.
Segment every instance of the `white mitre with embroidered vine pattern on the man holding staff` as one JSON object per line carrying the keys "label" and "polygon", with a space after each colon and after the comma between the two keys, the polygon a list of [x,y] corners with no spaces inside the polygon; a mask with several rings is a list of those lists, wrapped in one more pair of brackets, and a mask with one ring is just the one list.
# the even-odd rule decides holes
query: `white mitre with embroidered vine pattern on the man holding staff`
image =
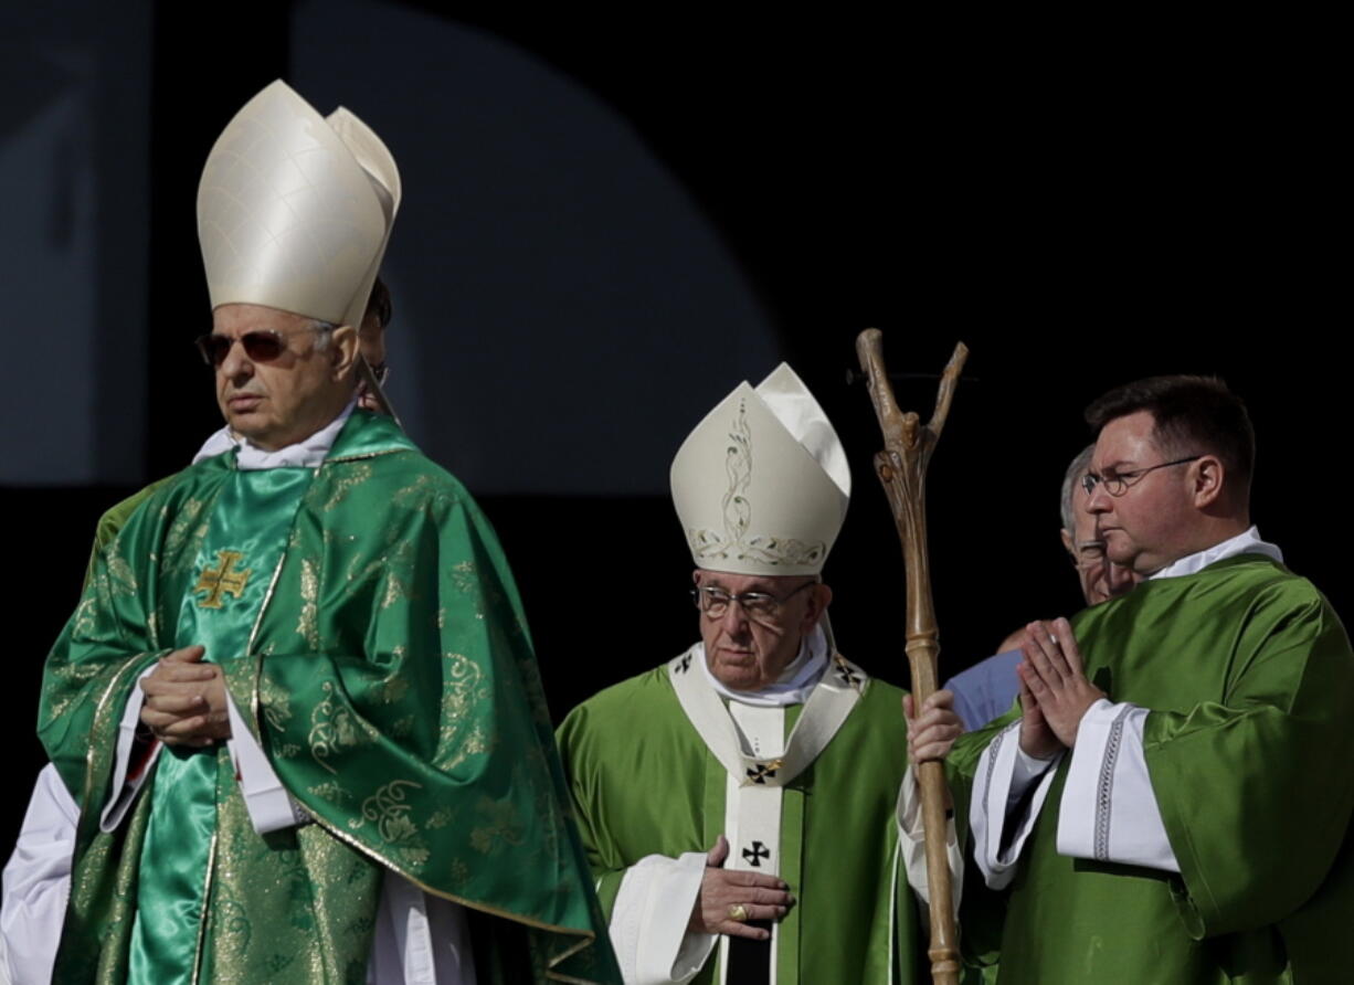
{"label": "white mitre with embroidered vine pattern on the man holding staff", "polygon": [[781,363],[696,425],[672,487],[696,567],[816,575],[846,518],[850,468],[823,409]]}

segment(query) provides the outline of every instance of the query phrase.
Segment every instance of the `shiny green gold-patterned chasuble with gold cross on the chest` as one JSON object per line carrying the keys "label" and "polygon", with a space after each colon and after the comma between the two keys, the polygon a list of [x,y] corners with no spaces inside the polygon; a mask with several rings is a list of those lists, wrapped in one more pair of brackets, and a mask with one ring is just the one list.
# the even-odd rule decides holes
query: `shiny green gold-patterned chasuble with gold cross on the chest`
{"label": "shiny green gold-patterned chasuble with gold cross on the chest", "polygon": [[[122,506],[43,681],[81,805],[56,981],[364,982],[385,869],[467,908],[486,985],[619,981],[517,591],[452,476],[355,411],[318,468],[227,452]],[[257,835],[221,744],[161,750],[100,831],[137,678],[196,643],[313,823]]]}

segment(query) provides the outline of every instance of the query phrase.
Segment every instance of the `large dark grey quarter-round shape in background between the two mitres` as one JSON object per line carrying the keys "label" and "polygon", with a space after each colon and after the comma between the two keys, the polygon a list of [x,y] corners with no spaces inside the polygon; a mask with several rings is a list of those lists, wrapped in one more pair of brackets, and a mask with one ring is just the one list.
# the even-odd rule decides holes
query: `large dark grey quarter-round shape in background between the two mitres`
{"label": "large dark grey quarter-round shape in background between the two mitres", "polygon": [[391,398],[475,492],[665,494],[686,433],[777,337],[632,127],[486,32],[370,0],[298,3],[291,83],[386,141]]}

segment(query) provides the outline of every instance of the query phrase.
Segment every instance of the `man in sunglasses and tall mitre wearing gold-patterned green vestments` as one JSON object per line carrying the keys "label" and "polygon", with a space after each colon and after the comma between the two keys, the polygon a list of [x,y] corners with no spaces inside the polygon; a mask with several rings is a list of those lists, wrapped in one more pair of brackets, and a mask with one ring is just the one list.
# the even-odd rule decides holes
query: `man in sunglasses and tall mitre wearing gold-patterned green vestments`
{"label": "man in sunglasses and tall mitre wearing gold-patterned green vestments", "polygon": [[232,441],[96,552],[47,660],[57,981],[617,978],[497,540],[357,407],[398,204],[379,138],[282,83],[207,161]]}

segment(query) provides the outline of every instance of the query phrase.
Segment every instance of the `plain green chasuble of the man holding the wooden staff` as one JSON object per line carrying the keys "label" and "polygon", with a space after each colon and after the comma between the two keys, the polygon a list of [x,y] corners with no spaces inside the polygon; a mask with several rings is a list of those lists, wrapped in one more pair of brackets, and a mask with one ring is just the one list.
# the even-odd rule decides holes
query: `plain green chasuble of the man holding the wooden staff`
{"label": "plain green chasuble of the man holding the wooden staff", "polygon": [[[705,852],[724,833],[728,770],[678,701],[681,660],[585,701],[556,736],[608,919],[630,866]],[[777,874],[796,902],[777,931],[781,985],[922,981],[925,940],[895,821],[907,767],[902,691],[852,671],[858,702],[783,793]],[[785,709],[787,733],[803,708]],[[718,965],[716,950],[692,981],[720,981]]]}

